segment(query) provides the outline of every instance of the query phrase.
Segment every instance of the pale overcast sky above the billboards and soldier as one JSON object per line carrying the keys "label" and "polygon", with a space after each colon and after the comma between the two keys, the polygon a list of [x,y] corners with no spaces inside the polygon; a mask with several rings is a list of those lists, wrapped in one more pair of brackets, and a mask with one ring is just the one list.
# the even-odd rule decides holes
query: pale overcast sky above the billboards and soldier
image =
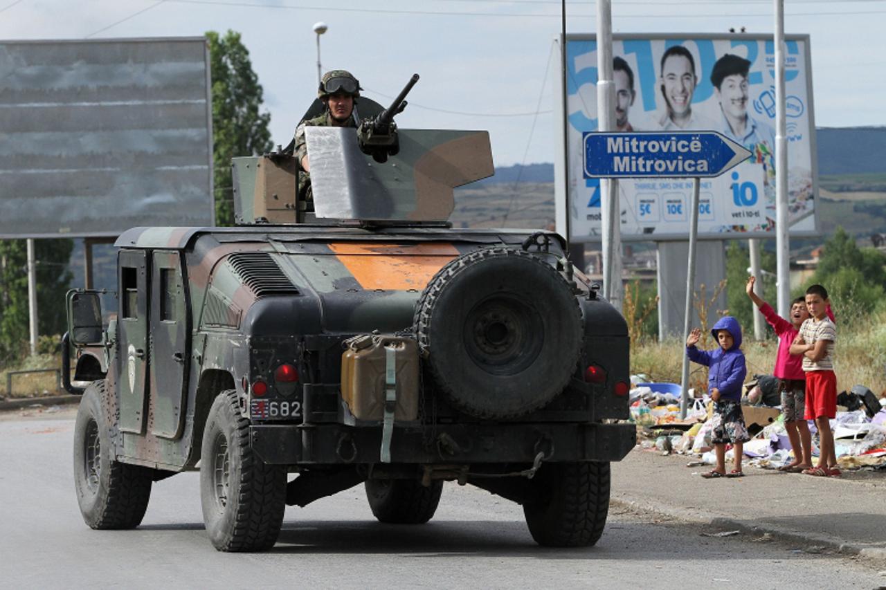
{"label": "pale overcast sky above the billboards and soldier", "polygon": [[[566,4],[569,33],[595,32],[593,2]],[[886,124],[886,0],[787,0],[786,13],[788,33],[812,35],[816,125]],[[773,30],[770,0],[612,0],[612,15],[619,33]],[[553,161],[559,0],[0,0],[0,40],[239,31],[276,144],[315,96],[317,21],[323,69],[350,70],[366,96],[387,103],[422,76],[400,127],[486,128],[497,166]]]}

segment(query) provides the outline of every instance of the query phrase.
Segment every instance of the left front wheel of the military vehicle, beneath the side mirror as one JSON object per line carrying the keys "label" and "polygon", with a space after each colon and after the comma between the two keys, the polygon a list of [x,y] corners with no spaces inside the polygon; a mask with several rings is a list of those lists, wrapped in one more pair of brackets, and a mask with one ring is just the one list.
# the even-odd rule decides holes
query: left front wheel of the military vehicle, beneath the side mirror
{"label": "left front wheel of the military vehicle, beneath the side mirror", "polygon": [[151,499],[152,470],[114,461],[105,382],[83,392],[74,424],[74,489],[83,520],[93,529],[132,529]]}

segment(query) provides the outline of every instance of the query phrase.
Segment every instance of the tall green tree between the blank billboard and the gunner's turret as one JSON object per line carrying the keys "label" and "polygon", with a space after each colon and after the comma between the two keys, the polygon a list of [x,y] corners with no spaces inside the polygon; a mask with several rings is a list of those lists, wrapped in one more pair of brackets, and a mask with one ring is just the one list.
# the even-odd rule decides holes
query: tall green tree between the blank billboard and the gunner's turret
{"label": "tall green tree between the blank billboard and the gunner's turret", "polygon": [[234,224],[230,159],[271,150],[271,116],[260,113],[263,90],[240,34],[209,31],[206,40],[213,80],[215,223],[226,226]]}

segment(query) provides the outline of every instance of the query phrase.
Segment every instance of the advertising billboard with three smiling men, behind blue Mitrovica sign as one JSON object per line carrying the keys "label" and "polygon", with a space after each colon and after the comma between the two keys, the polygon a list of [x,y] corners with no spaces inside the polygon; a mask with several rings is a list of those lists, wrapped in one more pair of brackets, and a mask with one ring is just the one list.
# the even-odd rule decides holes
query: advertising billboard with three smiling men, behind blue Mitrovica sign
{"label": "advertising billboard with three smiling men, behind blue Mitrovica sign", "polygon": [[[789,221],[816,233],[817,175],[808,35],[786,36]],[[716,131],[748,149],[701,182],[699,237],[774,237],[775,51],[764,35],[613,35],[619,132]],[[566,37],[566,182],[571,240],[598,241],[600,181],[584,173],[582,135],[598,130],[595,35]],[[641,137],[638,135],[638,137]],[[624,240],[686,239],[692,181],[618,181]]]}

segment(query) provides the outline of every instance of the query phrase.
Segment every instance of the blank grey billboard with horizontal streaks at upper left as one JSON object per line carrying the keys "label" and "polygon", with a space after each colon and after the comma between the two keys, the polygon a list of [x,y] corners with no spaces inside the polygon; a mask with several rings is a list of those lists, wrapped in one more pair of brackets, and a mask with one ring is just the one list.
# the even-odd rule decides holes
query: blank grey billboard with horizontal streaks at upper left
{"label": "blank grey billboard with horizontal streaks at upper left", "polygon": [[0,42],[0,237],[214,221],[203,37]]}

